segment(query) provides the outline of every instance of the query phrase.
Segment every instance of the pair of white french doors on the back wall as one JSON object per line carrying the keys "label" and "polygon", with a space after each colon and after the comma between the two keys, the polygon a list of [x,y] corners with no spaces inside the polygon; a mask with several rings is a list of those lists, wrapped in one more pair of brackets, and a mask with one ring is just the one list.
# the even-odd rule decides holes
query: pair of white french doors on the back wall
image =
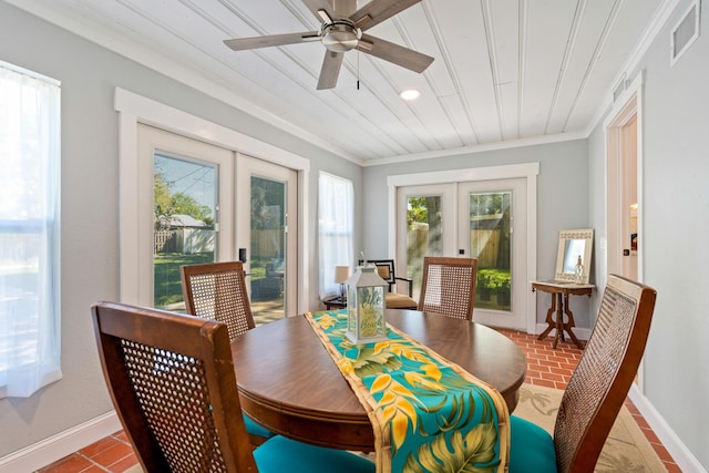
{"label": "pair of white french doors on the back wall", "polygon": [[397,215],[398,265],[417,297],[424,256],[477,258],[474,320],[526,329],[525,178],[402,186]]}

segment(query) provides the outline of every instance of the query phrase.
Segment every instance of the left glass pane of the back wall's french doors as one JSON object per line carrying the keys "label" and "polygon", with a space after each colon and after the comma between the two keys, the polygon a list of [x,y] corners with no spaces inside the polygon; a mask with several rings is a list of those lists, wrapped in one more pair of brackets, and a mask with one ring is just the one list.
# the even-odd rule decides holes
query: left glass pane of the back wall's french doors
{"label": "left glass pane of the back wall's french doors", "polygon": [[421,291],[423,257],[443,256],[441,200],[440,195],[407,198],[407,276],[413,279],[414,298]]}

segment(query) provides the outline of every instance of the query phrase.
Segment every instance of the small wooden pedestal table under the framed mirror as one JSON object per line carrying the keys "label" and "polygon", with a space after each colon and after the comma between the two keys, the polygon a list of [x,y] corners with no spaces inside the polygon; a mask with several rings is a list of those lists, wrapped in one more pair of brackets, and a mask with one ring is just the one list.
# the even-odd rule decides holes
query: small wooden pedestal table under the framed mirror
{"label": "small wooden pedestal table under the framed mirror", "polygon": [[[576,347],[583,349],[584,347],[580,345],[572,329],[574,328],[574,313],[568,308],[568,296],[577,295],[583,296],[586,295],[590,297],[594,288],[596,286],[590,284],[574,284],[574,282],[563,282],[563,281],[532,281],[532,291],[541,290],[542,292],[549,292],[552,295],[552,307],[546,311],[546,323],[548,327],[544,329],[537,340],[544,339],[552,329],[556,329],[556,333],[554,335],[554,343],[553,348],[556,348],[558,343],[559,337],[562,341],[564,339],[564,332],[568,333],[571,339],[576,343]],[[554,318],[554,312],[556,312],[556,319]],[[567,316],[567,320],[564,321],[564,313]]]}

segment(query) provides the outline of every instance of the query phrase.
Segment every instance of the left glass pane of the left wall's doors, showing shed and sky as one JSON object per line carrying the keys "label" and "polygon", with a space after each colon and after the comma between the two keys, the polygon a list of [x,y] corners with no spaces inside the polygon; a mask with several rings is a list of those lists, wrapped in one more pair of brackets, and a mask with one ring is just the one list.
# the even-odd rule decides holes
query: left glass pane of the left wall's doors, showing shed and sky
{"label": "left glass pane of the left wall's doors, showing shed and sky", "polygon": [[184,312],[179,267],[216,260],[217,168],[154,156],[154,306]]}

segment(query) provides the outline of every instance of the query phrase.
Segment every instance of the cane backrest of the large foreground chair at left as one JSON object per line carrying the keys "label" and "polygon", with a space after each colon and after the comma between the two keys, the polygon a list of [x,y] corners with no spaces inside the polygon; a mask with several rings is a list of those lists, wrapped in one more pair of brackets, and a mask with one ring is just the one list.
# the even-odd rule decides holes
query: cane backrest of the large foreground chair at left
{"label": "cane backrest of the large foreground chair at left", "polygon": [[99,302],[99,354],[146,472],[256,472],[224,323]]}

